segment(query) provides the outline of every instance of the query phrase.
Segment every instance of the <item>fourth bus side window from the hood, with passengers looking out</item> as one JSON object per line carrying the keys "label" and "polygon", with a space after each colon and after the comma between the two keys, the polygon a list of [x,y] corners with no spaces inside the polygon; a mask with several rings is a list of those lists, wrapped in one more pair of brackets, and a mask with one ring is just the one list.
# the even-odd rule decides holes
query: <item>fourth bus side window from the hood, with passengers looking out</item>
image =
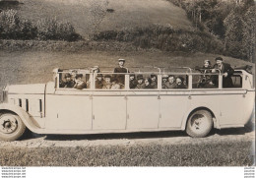
{"label": "fourth bus side window from the hood, with passengers looking out", "polygon": [[188,76],[162,75],[161,89],[188,89]]}

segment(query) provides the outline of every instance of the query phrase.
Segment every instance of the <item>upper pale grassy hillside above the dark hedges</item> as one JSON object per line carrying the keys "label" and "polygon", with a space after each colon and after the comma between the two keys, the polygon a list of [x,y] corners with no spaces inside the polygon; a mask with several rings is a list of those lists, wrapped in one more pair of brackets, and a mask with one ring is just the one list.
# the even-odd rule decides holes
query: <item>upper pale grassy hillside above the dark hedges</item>
{"label": "upper pale grassy hillside above the dark hedges", "polygon": [[[25,19],[56,17],[70,22],[87,37],[101,30],[122,30],[149,25],[192,29],[185,12],[165,0],[24,0],[20,14]],[[113,13],[107,13],[113,9]]]}

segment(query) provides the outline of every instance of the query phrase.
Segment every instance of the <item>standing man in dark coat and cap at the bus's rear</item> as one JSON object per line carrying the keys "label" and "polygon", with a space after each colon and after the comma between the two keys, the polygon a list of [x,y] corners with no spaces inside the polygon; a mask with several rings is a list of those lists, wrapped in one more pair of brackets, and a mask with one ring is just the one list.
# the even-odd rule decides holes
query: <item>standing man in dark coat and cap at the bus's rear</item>
{"label": "standing man in dark coat and cap at the bus's rear", "polygon": [[217,72],[217,69],[221,71],[223,74],[223,87],[224,88],[232,88],[233,83],[231,76],[233,74],[233,69],[231,68],[230,64],[224,63],[224,59],[222,57],[217,57],[216,59],[216,64],[214,65],[214,72]]}

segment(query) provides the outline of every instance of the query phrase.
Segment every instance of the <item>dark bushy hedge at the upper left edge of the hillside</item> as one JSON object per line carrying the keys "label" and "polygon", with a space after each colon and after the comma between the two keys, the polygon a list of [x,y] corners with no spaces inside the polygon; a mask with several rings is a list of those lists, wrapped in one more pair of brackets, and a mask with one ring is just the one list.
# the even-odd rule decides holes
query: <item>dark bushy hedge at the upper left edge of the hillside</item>
{"label": "dark bushy hedge at the upper left edge of the hillside", "polygon": [[0,13],[0,38],[74,41],[80,35],[68,22],[59,22],[54,18],[36,22],[21,20],[17,11],[8,10]]}

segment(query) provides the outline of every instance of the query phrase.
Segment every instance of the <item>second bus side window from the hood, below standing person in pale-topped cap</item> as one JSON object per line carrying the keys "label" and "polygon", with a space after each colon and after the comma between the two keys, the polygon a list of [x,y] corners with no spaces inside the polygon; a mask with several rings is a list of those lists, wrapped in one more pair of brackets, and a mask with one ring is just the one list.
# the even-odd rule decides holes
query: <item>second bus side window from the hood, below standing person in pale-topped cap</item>
{"label": "second bus side window from the hood, below standing person in pale-topped cap", "polygon": [[116,74],[97,74],[96,89],[125,89],[125,75]]}

